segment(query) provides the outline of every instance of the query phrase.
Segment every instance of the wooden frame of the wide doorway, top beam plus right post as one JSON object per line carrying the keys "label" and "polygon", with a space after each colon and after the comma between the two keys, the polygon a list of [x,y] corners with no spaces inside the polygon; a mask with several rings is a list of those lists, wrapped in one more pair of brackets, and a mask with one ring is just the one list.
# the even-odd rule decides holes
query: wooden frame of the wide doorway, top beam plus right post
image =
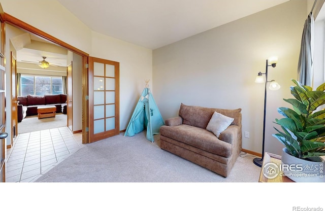
{"label": "wooden frame of the wide doorway, top beam plus right post", "polygon": [[22,29],[24,31],[30,32],[32,34],[35,34],[35,36],[45,39],[51,43],[54,43],[62,48],[66,48],[69,51],[72,51],[76,54],[79,54],[82,57],[82,144],[88,144],[88,57],[89,54],[67,44],[59,39],[51,36],[48,33],[45,33],[44,31],[41,31],[38,28],[35,28],[34,26],[31,26],[7,13],[4,14],[4,23],[13,25],[19,29]]}

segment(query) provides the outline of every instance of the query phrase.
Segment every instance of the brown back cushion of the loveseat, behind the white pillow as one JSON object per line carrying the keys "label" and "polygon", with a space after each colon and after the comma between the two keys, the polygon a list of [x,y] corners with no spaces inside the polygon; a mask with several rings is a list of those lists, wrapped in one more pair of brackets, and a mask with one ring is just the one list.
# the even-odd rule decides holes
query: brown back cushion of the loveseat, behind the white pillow
{"label": "brown back cushion of the loveseat, behind the white pillow", "polygon": [[234,121],[231,123],[231,125],[241,126],[241,110],[242,109],[230,110],[205,108],[193,105],[185,105],[181,103],[179,116],[183,118],[183,124],[206,129],[213,113],[217,112],[224,116],[234,118]]}

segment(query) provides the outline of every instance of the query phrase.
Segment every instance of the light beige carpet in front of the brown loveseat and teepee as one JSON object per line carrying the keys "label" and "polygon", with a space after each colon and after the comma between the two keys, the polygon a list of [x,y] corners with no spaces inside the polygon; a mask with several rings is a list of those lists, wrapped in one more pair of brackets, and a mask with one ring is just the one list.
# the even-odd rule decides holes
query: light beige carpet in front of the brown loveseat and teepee
{"label": "light beige carpet in front of the brown loveseat and teepee", "polygon": [[87,144],[36,182],[258,182],[261,168],[254,156],[242,153],[224,178],[160,149],[159,135],[154,138],[151,143],[144,132],[121,133]]}

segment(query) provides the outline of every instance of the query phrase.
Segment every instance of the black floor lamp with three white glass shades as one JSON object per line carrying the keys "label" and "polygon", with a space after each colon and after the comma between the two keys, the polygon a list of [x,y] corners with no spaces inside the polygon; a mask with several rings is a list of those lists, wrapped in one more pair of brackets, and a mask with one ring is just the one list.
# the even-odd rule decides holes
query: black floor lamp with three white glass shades
{"label": "black floor lamp with three white glass shades", "polygon": [[[267,84],[268,82],[270,82],[270,87],[269,89],[271,90],[278,90],[280,89],[280,85],[275,82],[274,80],[268,81],[268,68],[269,66],[275,67],[276,63],[277,63],[277,58],[271,58],[270,59],[270,63],[269,64],[269,60],[266,60],[266,70],[265,73],[261,73],[259,72],[256,76],[255,79],[255,83],[265,83],[265,93],[264,93],[264,119],[263,119],[263,142],[262,142],[262,158],[254,158],[253,162],[255,163],[255,165],[262,167],[263,164],[263,158],[264,158],[264,144],[265,144],[265,118],[266,118],[266,97],[267,97]],[[264,81],[264,77],[263,75],[265,75],[265,81]]]}

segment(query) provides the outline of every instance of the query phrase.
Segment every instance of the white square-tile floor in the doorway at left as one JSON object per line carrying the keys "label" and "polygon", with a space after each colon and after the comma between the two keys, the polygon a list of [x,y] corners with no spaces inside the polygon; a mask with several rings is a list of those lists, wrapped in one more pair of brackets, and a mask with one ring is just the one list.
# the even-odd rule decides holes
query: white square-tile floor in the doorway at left
{"label": "white square-tile floor in the doorway at left", "polygon": [[68,127],[18,134],[7,150],[6,182],[34,182],[82,147],[82,133]]}

